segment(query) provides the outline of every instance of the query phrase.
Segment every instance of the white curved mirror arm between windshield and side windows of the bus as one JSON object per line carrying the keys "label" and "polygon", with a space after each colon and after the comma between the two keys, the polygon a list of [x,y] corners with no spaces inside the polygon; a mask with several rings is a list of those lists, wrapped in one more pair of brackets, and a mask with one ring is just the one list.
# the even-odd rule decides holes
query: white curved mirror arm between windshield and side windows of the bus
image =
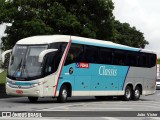
{"label": "white curved mirror arm between windshield and side windows of the bus", "polygon": [[47,49],[47,50],[43,50],[40,54],[39,54],[39,58],[38,58],[38,62],[42,62],[43,58],[46,54],[51,53],[51,52],[55,52],[58,51],[58,49]]}

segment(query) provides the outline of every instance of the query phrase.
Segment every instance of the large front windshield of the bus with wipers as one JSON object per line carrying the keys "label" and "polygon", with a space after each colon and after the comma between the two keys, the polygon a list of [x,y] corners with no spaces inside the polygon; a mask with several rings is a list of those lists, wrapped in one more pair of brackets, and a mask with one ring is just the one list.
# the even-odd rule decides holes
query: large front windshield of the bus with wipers
{"label": "large front windshield of the bus with wipers", "polygon": [[42,67],[41,63],[38,62],[38,57],[47,47],[47,45],[16,45],[10,58],[8,76],[20,79],[40,76]]}

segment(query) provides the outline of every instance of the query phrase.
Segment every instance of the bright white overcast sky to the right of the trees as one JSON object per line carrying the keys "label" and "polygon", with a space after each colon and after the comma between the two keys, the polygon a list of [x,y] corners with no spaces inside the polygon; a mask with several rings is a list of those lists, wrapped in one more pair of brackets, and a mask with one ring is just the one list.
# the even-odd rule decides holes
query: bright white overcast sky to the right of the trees
{"label": "bright white overcast sky to the right of the trees", "polygon": [[144,33],[149,45],[160,57],[160,0],[112,0],[113,14],[121,23],[129,23]]}

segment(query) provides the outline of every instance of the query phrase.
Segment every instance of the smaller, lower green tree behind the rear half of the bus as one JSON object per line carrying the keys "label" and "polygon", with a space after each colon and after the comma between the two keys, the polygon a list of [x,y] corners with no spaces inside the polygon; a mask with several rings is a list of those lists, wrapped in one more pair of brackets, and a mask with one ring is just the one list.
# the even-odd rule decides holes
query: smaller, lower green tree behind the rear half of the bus
{"label": "smaller, lower green tree behind the rear half of the bus", "polygon": [[135,27],[130,27],[128,23],[115,21],[114,29],[113,41],[117,43],[138,48],[144,48],[145,45],[149,44],[143,33],[136,30]]}

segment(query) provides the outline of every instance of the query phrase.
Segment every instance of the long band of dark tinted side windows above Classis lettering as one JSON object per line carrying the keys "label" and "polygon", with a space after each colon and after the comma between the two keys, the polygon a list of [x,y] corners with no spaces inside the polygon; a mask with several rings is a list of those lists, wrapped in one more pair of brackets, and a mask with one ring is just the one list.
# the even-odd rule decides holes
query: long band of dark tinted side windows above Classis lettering
{"label": "long band of dark tinted side windows above Classis lettering", "polygon": [[156,55],[90,45],[72,44],[65,65],[76,62],[153,67],[156,64]]}

